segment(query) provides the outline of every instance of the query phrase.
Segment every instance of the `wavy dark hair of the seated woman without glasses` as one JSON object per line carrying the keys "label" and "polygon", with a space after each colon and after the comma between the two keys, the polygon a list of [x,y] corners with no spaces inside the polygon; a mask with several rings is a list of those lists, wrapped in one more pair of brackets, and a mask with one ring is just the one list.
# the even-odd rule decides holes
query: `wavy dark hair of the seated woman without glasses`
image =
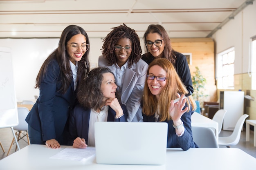
{"label": "wavy dark hair of the seated woman without glasses", "polygon": [[[107,67],[97,67],[92,69],[85,79],[81,80],[77,91],[77,99],[83,107],[93,108],[95,110],[101,107],[103,100],[101,83],[104,73],[111,73],[114,75]],[[120,88],[117,87],[116,98],[120,102],[119,89]]]}

